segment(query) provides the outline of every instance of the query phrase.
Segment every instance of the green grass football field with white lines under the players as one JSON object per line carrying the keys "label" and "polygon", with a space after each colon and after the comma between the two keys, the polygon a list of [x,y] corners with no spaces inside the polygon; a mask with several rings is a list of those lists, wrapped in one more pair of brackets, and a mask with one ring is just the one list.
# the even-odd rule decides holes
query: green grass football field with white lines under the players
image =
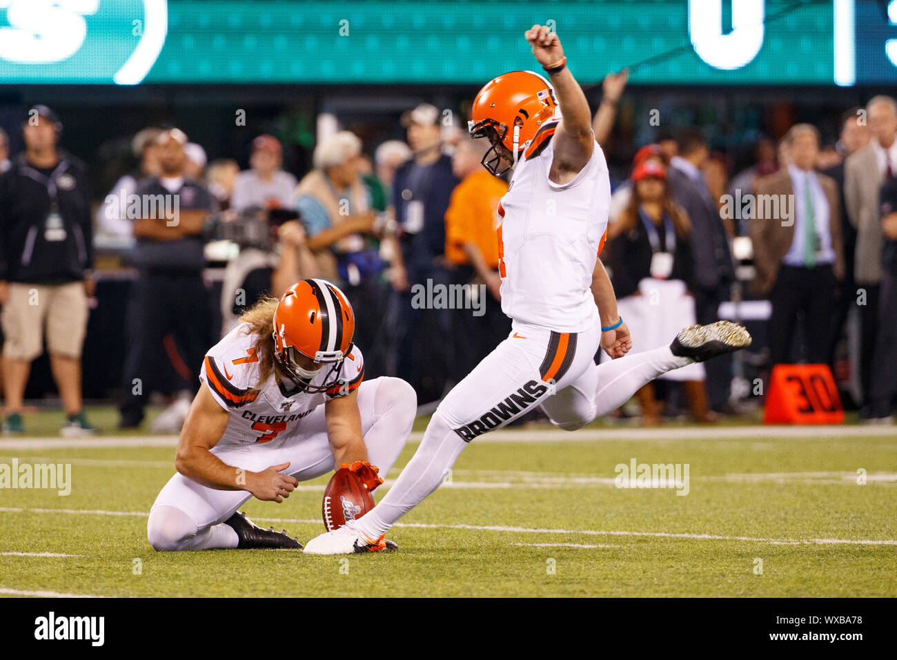
{"label": "green grass football field with white lines under the players", "polygon": [[[897,435],[869,431],[492,434],[498,439],[475,442],[451,483],[392,530],[397,553],[349,558],[156,552],[146,515],[173,473],[173,439],[0,439],[0,463],[71,463],[73,482],[67,497],[0,489],[0,594],[893,597]],[[633,458],[687,463],[689,493],[616,488],[614,466]],[[323,531],[326,481],[244,510],[307,541]]]}

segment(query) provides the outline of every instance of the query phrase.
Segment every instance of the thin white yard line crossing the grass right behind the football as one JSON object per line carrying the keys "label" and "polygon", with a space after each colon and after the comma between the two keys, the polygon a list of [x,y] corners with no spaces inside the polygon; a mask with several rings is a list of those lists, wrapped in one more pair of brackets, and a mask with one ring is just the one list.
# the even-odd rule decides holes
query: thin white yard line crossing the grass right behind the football
{"label": "thin white yard line crossing the grass right behind the football", "polygon": [[[71,514],[71,515],[116,515],[147,517],[145,511],[102,511],[97,509],[25,509],[18,506],[2,506],[0,513],[35,513],[35,514]],[[265,523],[321,524],[320,519],[311,518],[263,518],[252,516],[252,520]],[[774,543],[777,545],[802,543],[806,545],[897,545],[894,539],[772,539],[760,536],[726,536],[723,534],[696,534],[685,532],[628,532],[619,530],[565,530],[536,527],[509,527],[505,525],[482,524],[433,524],[433,523],[396,523],[396,527],[410,529],[452,529],[473,530],[477,532],[518,532],[527,534],[583,534],[586,536],[644,536],[662,539],[696,539],[704,541],[753,541]]]}

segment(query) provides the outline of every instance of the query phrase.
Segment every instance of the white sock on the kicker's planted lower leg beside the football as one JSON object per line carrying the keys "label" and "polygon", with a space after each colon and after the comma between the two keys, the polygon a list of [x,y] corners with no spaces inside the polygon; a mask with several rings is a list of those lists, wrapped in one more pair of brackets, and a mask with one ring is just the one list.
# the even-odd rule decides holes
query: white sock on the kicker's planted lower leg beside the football
{"label": "white sock on the kicker's planted lower leg beside the football", "polygon": [[433,413],[421,446],[379,504],[354,524],[371,540],[378,539],[424,497],[440,487],[467,443],[448,426],[440,410]]}

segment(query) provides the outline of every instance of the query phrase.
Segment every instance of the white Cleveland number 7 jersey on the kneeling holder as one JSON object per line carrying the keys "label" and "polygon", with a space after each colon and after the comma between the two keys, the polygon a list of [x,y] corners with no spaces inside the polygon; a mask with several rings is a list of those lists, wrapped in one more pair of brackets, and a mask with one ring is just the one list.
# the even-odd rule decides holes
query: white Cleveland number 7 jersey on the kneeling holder
{"label": "white Cleveland number 7 jersey on the kneeling holder", "polygon": [[[335,397],[357,389],[364,378],[361,351],[353,347],[345,357],[339,381],[327,392],[308,394],[290,390],[272,373],[258,383],[258,356],[254,345],[258,335],[240,323],[205,354],[199,379],[205,383],[231,420],[219,444],[256,444],[274,440],[279,434],[301,433],[301,420],[313,409]],[[320,385],[333,380],[331,365],[311,380]]]}

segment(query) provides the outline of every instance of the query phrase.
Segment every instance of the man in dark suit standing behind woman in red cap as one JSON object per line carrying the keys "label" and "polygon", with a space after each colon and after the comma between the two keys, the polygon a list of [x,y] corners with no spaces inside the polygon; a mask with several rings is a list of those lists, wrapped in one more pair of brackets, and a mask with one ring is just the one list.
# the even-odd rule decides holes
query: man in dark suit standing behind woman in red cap
{"label": "man in dark suit standing behind woman in red cap", "polygon": [[[684,130],[677,141],[678,155],[670,160],[668,180],[673,198],[685,209],[692,222],[692,263],[694,266],[694,306],[702,325],[717,321],[719,304],[729,299],[729,287],[735,281],[735,266],[728,236],[719,216],[718,199],[713,198],[701,167],[710,151],[698,131]],[[710,360],[707,370],[710,407],[729,411],[732,383],[732,358]]]}

